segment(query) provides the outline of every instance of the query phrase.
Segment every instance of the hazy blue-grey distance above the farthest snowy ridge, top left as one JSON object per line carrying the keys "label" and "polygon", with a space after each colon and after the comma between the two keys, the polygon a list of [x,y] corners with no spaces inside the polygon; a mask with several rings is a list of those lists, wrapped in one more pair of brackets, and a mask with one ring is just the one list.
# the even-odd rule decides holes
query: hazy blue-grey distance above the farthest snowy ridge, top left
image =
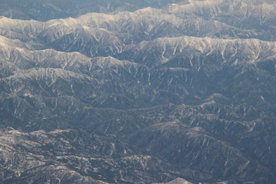
{"label": "hazy blue-grey distance above the farthest snowy ridge, top left", "polygon": [[162,8],[168,3],[181,0],[2,0],[0,14],[13,19],[35,19],[48,21],[67,17],[78,17],[88,12],[135,11],[148,6]]}

